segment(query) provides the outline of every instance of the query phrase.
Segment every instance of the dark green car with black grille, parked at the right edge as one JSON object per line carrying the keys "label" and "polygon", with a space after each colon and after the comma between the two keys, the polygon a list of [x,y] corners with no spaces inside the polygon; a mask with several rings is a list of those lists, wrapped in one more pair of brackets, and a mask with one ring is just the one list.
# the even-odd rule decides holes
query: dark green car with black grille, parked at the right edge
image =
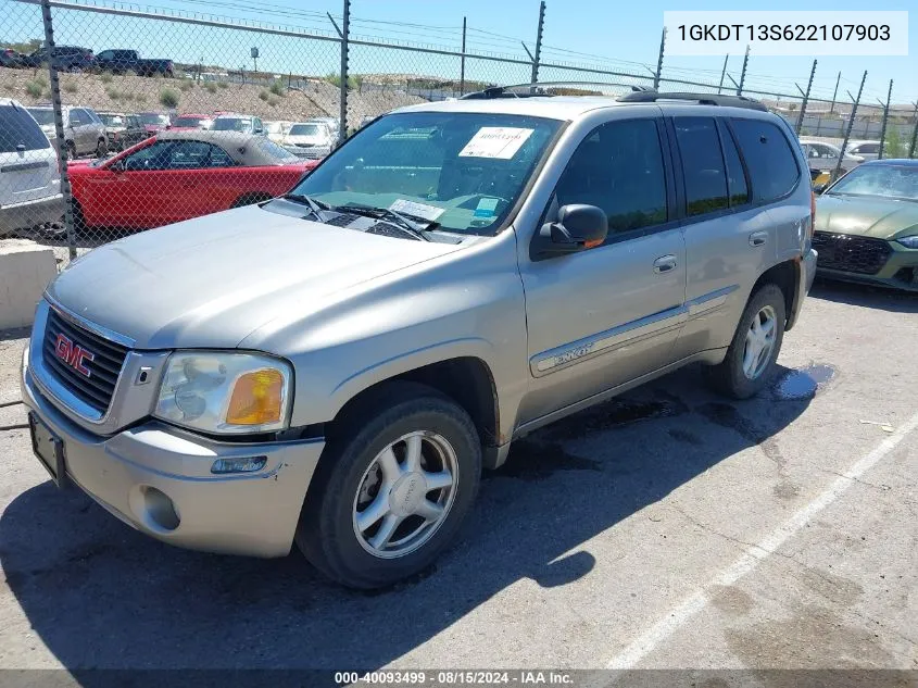
{"label": "dark green car with black grille, parked at the right edge", "polygon": [[918,160],[873,160],[816,203],[820,275],[918,291]]}

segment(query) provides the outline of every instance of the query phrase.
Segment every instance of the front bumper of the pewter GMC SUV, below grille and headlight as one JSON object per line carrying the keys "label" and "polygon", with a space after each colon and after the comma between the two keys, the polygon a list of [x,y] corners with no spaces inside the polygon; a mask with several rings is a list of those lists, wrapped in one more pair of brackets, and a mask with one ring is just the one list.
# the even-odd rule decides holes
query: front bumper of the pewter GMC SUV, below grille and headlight
{"label": "front bumper of the pewter GMC SUV, below grille and headlight", "polygon": [[[23,402],[63,441],[66,478],[131,527],[196,550],[289,553],[324,440],[217,442],[153,420],[104,437],[73,423],[41,393],[28,349],[21,384]],[[254,473],[211,473],[215,460],[241,456],[266,463]],[[160,493],[174,510],[167,517]]]}

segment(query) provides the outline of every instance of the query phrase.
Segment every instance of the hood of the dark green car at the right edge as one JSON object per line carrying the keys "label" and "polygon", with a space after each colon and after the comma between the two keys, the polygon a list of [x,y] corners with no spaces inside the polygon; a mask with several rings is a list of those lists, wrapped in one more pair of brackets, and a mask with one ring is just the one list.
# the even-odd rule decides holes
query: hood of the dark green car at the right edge
{"label": "hood of the dark green car at the right edge", "polygon": [[915,234],[918,203],[876,197],[820,196],[816,202],[817,232],[894,239]]}

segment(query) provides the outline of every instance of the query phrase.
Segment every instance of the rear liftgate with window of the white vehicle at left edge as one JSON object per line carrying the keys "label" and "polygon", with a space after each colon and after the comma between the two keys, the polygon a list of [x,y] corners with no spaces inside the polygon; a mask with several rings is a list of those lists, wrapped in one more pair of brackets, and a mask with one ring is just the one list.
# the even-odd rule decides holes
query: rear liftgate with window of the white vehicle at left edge
{"label": "rear liftgate with window of the white vehicle at left edge", "polygon": [[24,108],[0,105],[0,205],[54,196],[60,190],[54,150]]}

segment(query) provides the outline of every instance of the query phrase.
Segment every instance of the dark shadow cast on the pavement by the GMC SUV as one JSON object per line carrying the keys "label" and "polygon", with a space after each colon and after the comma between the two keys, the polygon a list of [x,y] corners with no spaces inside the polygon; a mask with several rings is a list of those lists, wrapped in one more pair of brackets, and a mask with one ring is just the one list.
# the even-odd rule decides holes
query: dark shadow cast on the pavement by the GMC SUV
{"label": "dark shadow cast on the pavement by the GMC SUV", "polygon": [[72,672],[375,668],[521,579],[556,587],[596,575],[589,549],[565,553],[737,452],[767,450],[808,403],[771,391],[728,403],[690,367],[570,416],[517,441],[485,476],[460,542],[382,591],[327,584],[295,551],[264,561],[171,548],[51,483],[7,508],[0,562],[35,633]]}

